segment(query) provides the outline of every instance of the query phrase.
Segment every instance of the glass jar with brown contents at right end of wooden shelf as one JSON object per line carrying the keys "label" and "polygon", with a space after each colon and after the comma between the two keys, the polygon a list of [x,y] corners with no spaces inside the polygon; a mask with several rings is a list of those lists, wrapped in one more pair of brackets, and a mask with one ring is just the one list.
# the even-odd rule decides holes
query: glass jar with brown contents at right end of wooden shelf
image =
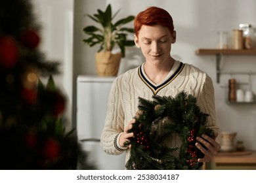
{"label": "glass jar with brown contents at right end of wooden shelf", "polygon": [[251,24],[239,24],[239,29],[243,31],[244,37],[244,48],[252,49],[253,48],[253,27]]}

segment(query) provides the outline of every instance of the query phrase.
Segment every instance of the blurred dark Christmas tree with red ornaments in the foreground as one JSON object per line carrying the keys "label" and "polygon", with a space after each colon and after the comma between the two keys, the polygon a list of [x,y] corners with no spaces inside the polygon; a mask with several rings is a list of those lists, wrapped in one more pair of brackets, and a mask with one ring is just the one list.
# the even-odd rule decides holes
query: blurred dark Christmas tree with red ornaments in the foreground
{"label": "blurred dark Christmas tree with red ornaments in the foreground", "polygon": [[32,10],[28,0],[0,1],[0,169],[92,169],[65,132],[65,97],[52,77],[58,63],[39,51]]}

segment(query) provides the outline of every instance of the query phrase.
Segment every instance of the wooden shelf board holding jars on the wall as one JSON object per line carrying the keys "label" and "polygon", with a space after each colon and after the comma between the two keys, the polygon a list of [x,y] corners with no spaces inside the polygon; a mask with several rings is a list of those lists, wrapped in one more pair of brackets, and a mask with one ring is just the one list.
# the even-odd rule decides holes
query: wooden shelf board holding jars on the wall
{"label": "wooden shelf board holding jars on the wall", "polygon": [[196,50],[197,55],[246,55],[246,56],[255,56],[256,55],[256,49],[253,50],[233,50],[233,49],[205,49],[200,48]]}

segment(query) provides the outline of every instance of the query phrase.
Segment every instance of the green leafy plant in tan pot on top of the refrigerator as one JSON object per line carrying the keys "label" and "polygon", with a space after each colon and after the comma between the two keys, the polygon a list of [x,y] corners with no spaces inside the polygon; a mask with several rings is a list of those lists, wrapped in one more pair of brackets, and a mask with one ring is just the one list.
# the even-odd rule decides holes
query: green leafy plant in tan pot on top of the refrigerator
{"label": "green leafy plant in tan pot on top of the refrigerator", "polygon": [[[120,60],[125,57],[125,46],[135,45],[133,40],[127,39],[127,33],[134,33],[134,29],[123,27],[124,24],[133,21],[135,16],[127,16],[113,23],[118,12],[119,10],[112,16],[111,5],[108,5],[104,12],[98,9],[93,16],[87,14],[89,18],[101,25],[101,27],[89,25],[83,28],[83,32],[87,35],[87,38],[83,39],[85,44],[90,47],[100,44],[95,54],[96,71],[99,76],[116,76]],[[121,50],[117,54],[112,53],[115,46]]]}

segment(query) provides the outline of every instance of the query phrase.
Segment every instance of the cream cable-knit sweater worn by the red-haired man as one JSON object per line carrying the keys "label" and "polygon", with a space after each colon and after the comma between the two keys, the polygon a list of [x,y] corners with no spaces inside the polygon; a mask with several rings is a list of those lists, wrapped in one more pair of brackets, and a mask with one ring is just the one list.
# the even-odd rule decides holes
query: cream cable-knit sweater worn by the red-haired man
{"label": "cream cable-knit sweater worn by the red-haired man", "polygon": [[[208,126],[220,134],[215,116],[213,84],[206,73],[193,65],[175,61],[169,75],[163,82],[156,85],[150,82],[144,73],[143,66],[144,64],[118,76],[112,85],[108,99],[105,127],[100,139],[101,146],[107,154],[118,155],[124,152],[114,146],[115,137],[117,137],[118,142],[120,133],[135,116],[139,105],[138,98],[151,100],[154,94],[160,96],[171,95],[173,97],[182,91],[192,94],[197,98],[202,112],[210,114]],[[217,138],[217,142],[219,142],[219,139]],[[180,140],[173,137],[171,146],[179,146],[180,144]],[[129,159],[130,151],[127,149],[125,152],[126,162]]]}

